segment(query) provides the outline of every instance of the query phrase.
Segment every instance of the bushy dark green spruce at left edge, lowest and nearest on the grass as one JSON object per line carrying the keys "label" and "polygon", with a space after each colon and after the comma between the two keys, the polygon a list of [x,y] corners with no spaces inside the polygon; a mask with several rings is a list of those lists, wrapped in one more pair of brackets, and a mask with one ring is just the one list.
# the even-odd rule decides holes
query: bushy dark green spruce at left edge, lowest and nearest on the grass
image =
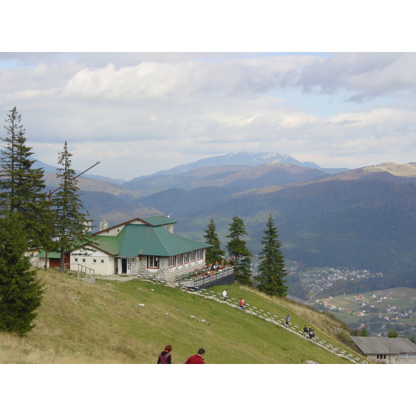
{"label": "bushy dark green spruce at left edge, lowest and nearest on the grass", "polygon": [[0,218],[0,331],[20,336],[33,328],[44,291],[25,256],[28,238],[21,214]]}

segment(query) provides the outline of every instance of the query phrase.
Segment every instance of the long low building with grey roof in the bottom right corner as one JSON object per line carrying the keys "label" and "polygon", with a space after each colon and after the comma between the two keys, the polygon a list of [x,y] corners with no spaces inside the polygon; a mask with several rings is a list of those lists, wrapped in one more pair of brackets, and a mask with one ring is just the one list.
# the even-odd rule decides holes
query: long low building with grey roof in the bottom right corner
{"label": "long low building with grey roof in the bottom right corner", "polygon": [[352,341],[374,363],[416,364],[416,345],[407,338],[352,336]]}

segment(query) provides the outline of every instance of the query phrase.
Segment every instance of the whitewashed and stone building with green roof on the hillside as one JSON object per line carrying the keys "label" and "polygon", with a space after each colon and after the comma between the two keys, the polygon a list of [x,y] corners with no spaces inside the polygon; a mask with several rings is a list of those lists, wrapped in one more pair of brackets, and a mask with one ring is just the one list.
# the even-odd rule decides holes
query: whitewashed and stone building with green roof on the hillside
{"label": "whitewashed and stone building with green roof on the hillside", "polygon": [[71,270],[94,269],[94,275],[133,275],[174,283],[205,266],[210,244],[173,234],[176,222],[164,215],[135,218],[92,234],[96,242],[69,252]]}

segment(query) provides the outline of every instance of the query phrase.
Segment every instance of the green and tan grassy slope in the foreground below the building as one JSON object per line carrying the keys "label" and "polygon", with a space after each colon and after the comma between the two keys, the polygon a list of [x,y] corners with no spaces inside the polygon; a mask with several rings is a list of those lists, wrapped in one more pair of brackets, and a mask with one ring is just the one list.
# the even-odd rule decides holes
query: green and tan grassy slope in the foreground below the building
{"label": "green and tan grassy slope in the foreground below the building", "polygon": [[[350,362],[266,319],[195,293],[137,279],[88,284],[55,270],[38,275],[46,292],[36,326],[24,338],[0,333],[0,363],[156,363],[166,344],[173,346],[174,364],[200,347],[210,364]],[[236,284],[227,290],[231,303],[244,297],[260,315],[283,319],[289,313],[293,325],[311,325],[322,343],[357,356],[334,338],[345,330],[330,315]],[[204,293],[217,297],[221,291]]]}

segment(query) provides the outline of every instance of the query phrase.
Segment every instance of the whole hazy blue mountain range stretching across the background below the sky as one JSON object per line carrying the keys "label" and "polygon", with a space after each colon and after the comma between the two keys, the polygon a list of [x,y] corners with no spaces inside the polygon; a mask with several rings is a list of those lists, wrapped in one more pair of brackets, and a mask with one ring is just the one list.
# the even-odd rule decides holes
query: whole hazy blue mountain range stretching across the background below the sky
{"label": "whole hazy blue mountain range stretching across the background below the sky", "polygon": [[[374,270],[416,285],[415,163],[341,168],[331,174],[318,165],[275,160],[277,155],[207,158],[122,184],[80,177],[78,187],[96,226],[103,216],[111,226],[162,213],[177,220],[176,234],[202,240],[214,218],[225,245],[229,223],[239,216],[248,231],[248,248],[257,254],[272,214],[288,259],[306,266]],[[219,164],[224,160],[232,163]],[[45,180],[54,186],[50,174]]]}

